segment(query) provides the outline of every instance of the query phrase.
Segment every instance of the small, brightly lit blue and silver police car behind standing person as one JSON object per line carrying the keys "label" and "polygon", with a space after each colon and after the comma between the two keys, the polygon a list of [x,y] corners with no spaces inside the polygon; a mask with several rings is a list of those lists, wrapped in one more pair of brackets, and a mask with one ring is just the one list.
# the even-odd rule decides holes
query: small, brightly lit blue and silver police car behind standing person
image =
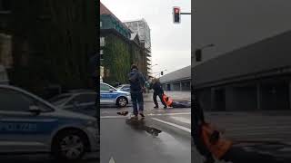
{"label": "small, brightly lit blue and silver police car behind standing person", "polygon": [[100,104],[101,105],[117,105],[125,107],[131,101],[130,93],[119,91],[113,86],[100,82]]}

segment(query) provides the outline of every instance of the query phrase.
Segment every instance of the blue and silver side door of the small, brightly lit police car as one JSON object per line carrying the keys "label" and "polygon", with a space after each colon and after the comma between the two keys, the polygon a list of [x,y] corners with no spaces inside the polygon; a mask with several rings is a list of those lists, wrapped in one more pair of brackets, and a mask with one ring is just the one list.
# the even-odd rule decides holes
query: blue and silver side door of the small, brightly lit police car
{"label": "blue and silver side door of the small, brightly lit police car", "polygon": [[115,104],[118,93],[105,83],[100,83],[100,104]]}

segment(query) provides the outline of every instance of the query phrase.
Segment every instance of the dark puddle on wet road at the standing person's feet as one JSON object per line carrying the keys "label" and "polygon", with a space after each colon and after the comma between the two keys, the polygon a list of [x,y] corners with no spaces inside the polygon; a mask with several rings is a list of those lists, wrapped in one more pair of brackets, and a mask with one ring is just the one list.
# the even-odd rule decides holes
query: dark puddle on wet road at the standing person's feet
{"label": "dark puddle on wet road at the standing person's feet", "polygon": [[162,130],[160,130],[160,129],[146,126],[146,122],[145,122],[144,118],[142,118],[140,120],[138,120],[137,118],[126,120],[126,123],[128,125],[130,125],[133,129],[145,130],[147,133],[149,133],[153,136],[158,136],[158,134],[162,132]]}

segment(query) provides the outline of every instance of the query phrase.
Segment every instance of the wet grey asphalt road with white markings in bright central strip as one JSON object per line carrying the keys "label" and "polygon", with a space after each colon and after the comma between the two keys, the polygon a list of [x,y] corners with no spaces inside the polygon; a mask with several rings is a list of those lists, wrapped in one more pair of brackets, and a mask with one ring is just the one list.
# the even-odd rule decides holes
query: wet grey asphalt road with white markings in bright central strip
{"label": "wet grey asphalt road with white markings in bright central strip", "polygon": [[146,118],[127,122],[116,111],[131,107],[101,109],[101,163],[191,162],[191,110],[153,107],[145,102]]}

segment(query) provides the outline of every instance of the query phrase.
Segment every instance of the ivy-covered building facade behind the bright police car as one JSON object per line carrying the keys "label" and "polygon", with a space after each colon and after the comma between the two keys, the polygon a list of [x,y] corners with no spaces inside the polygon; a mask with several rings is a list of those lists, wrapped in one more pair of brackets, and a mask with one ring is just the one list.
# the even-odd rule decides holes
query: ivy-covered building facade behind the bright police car
{"label": "ivy-covered building facade behind the bright police car", "polygon": [[139,34],[122,23],[109,9],[100,4],[100,76],[110,84],[127,83],[131,64],[147,75],[146,48]]}

